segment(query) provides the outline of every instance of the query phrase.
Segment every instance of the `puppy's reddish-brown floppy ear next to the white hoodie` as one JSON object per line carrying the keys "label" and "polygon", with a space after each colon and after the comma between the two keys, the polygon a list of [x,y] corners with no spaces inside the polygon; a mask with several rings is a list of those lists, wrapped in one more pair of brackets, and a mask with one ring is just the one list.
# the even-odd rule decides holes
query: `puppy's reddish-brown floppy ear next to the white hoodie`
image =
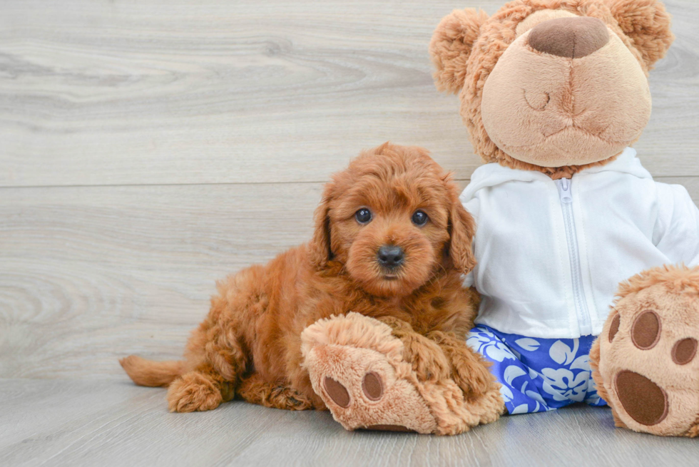
{"label": "puppy's reddish-brown floppy ear next to the white hoodie", "polygon": [[449,245],[447,251],[451,264],[461,274],[468,274],[476,267],[473,252],[473,238],[476,234],[476,221],[459,201],[456,186],[449,182],[451,207],[449,208]]}

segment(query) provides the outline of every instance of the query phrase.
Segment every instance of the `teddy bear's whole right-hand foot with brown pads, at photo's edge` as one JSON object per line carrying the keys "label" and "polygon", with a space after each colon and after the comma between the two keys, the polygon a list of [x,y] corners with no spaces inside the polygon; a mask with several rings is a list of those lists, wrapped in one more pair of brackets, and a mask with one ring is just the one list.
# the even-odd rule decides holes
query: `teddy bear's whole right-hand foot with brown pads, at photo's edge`
{"label": "teddy bear's whole right-hand foot with brown pads, at photo's edge", "polygon": [[697,436],[699,270],[661,267],[623,284],[591,352],[617,426]]}

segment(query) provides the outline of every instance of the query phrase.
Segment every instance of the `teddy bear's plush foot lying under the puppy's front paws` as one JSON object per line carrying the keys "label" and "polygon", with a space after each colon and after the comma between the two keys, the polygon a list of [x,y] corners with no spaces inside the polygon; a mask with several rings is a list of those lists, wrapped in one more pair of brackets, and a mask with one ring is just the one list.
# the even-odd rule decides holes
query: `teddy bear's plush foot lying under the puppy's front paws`
{"label": "teddy bear's plush foot lying under the puppy's front paws", "polygon": [[504,403],[487,371],[484,391],[477,395],[463,391],[449,371],[440,374],[439,365],[421,375],[415,364],[424,342],[399,335],[358,313],[322,319],[302,332],[302,365],[342,426],[453,435],[499,418]]}

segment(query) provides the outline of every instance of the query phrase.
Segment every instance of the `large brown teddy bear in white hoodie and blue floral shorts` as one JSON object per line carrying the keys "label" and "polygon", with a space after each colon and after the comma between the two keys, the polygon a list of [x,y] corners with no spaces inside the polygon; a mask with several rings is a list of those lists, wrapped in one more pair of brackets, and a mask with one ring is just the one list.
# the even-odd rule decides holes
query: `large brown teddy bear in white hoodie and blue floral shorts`
{"label": "large brown teddy bear in white hoodie and blue floral shorts", "polygon": [[[648,72],[673,39],[657,0],[514,0],[493,16],[453,11],[434,31],[437,88],[458,93],[484,160],[460,197],[477,225],[464,287],[481,297],[466,342],[509,414],[609,405],[617,426],[699,434],[699,210],[631,147],[650,118]],[[400,347],[395,330],[356,318],[302,335],[314,389],[345,428],[454,434],[497,418],[426,389],[382,347]],[[381,409],[361,396],[366,374],[348,371],[369,360],[404,389]],[[345,407],[327,374],[344,375]]]}

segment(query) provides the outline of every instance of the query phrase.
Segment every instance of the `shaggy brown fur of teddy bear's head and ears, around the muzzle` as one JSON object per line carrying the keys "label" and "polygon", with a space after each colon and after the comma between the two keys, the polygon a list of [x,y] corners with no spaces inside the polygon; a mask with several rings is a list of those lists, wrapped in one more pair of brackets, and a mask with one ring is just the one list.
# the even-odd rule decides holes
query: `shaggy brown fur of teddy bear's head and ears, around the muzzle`
{"label": "shaggy brown fur of teddy bear's head and ears, around the muzzle", "polygon": [[437,66],[434,74],[437,88],[459,93],[461,117],[476,153],[486,163],[539,170],[552,178],[570,177],[584,168],[609,163],[618,153],[582,165],[547,167],[524,162],[496,146],[481,118],[485,83],[504,51],[517,38],[517,26],[546,9],[601,19],[628,47],[644,73],[663,58],[674,38],[670,32],[670,15],[657,0],[514,0],[490,18],[482,11],[466,9],[454,11],[437,26],[430,44],[432,60]]}

